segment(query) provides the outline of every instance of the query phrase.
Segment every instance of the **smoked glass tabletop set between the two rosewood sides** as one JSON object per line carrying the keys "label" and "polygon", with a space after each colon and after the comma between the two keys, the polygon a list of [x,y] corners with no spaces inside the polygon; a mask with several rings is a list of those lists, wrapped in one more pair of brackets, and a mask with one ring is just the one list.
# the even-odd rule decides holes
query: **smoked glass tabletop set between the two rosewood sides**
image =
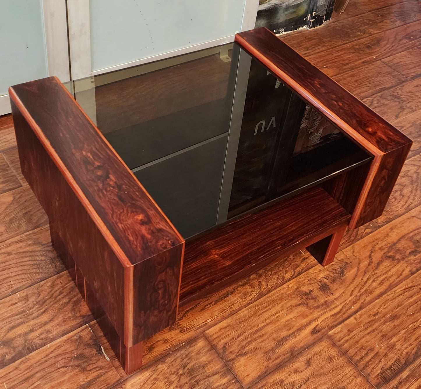
{"label": "smoked glass tabletop set between the two rosewood sides", "polygon": [[186,239],[372,159],[235,44],[69,88]]}

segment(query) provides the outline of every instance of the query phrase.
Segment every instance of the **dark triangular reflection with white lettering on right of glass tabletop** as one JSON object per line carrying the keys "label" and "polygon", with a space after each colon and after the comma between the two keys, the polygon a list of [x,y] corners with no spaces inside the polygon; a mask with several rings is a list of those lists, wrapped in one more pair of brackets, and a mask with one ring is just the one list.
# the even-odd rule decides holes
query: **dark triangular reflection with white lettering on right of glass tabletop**
{"label": "dark triangular reflection with white lettering on right of glass tabletop", "polygon": [[252,59],[228,218],[369,159]]}

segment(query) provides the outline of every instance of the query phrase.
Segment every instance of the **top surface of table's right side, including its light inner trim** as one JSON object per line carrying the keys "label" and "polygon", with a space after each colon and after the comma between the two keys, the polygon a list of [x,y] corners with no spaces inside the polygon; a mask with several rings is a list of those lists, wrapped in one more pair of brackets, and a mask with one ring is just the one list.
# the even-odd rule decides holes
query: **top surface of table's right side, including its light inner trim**
{"label": "top surface of table's right side, including its light inner trim", "polygon": [[332,82],[268,29],[242,32],[236,35],[235,41],[372,153],[387,153],[410,143],[405,135]]}

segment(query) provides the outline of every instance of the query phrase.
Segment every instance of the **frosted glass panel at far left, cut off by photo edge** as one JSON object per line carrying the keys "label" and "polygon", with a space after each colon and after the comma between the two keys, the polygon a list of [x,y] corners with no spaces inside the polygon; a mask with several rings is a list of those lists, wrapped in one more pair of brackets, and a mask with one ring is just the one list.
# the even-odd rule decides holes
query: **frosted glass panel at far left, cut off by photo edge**
{"label": "frosted glass panel at far left, cut off by photo edge", "polygon": [[41,0],[1,0],[0,95],[8,87],[47,77]]}

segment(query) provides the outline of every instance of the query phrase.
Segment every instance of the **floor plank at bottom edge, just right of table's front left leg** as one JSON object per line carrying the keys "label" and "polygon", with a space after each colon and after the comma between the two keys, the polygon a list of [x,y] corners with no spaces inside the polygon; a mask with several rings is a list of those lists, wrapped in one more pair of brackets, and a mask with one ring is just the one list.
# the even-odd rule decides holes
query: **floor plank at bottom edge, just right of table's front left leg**
{"label": "floor plank at bottom edge, just right of table's front left leg", "polygon": [[233,388],[241,389],[213,347],[200,336],[114,389],[137,388]]}

